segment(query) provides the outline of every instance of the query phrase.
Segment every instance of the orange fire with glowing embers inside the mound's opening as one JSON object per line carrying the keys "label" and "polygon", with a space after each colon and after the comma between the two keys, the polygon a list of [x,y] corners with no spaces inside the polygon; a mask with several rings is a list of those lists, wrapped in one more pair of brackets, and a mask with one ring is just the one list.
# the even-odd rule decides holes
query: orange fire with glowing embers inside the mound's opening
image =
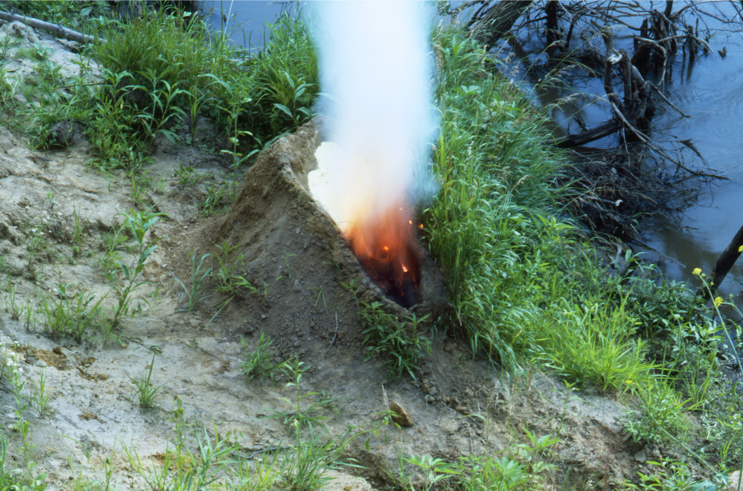
{"label": "orange fire with glowing embers inside the mound's opening", "polygon": [[417,302],[421,281],[416,227],[407,207],[367,212],[345,227],[343,236],[366,273],[403,307]]}

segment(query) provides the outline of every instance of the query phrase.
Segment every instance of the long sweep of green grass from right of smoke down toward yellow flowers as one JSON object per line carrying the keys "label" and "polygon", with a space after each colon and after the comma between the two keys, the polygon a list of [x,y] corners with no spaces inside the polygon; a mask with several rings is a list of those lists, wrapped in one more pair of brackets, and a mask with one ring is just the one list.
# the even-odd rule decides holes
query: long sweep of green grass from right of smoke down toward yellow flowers
{"label": "long sweep of green grass from right of smoke down toward yellow flowers", "polygon": [[[441,189],[422,220],[447,283],[450,325],[506,368],[546,361],[602,391],[675,385],[680,351],[700,359],[714,351],[709,342],[704,353],[691,348],[709,334],[704,305],[682,284],[657,284],[631,253],[624,270],[600,267],[560,211],[569,189],[554,183],[565,159],[542,144],[545,117],[457,29],[438,30],[432,42]],[[667,340],[682,338],[672,353]]]}

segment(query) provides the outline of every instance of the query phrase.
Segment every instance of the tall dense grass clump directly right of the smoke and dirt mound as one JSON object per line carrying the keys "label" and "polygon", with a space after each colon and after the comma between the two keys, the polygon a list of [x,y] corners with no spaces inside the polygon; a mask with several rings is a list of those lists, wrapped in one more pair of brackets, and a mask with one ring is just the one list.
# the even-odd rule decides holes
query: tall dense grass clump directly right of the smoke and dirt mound
{"label": "tall dense grass clump directly right of the smoke and dirt mound", "polygon": [[542,277],[569,245],[570,227],[549,211],[560,158],[539,144],[543,118],[475,42],[447,28],[433,43],[442,185],[423,215],[426,239],[444,270],[453,325],[474,350],[513,367],[516,351],[536,344]]}

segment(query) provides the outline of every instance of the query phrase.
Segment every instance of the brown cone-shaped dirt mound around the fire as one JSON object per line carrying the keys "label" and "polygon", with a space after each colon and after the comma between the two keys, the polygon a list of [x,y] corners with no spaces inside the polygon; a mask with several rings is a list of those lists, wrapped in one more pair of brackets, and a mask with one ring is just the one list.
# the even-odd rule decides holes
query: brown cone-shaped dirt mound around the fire
{"label": "brown cone-shaped dirt mound around the fire", "polygon": [[400,320],[415,313],[432,321],[447,305],[441,273],[427,256],[418,288],[421,302],[410,309],[384,296],[363,272],[337,226],[308,191],[307,175],[317,168],[314,152],[322,141],[322,125],[322,118],[316,118],[263,152],[247,172],[230,211],[193,235],[189,232],[192,240],[181,248],[188,253],[194,247],[200,256],[215,253],[214,244],[224,241],[239,246],[233,255],[241,255],[244,265],[236,274],[257,291],[233,302],[221,318],[239,322],[236,334],[269,334],[279,357],[314,360],[340,351],[362,357],[356,297],[380,302]]}

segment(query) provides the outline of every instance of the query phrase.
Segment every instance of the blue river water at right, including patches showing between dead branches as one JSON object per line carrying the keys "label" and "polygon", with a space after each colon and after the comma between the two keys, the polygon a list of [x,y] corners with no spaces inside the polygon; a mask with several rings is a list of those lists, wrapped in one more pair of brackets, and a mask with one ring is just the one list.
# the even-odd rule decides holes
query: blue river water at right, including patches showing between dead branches
{"label": "blue river water at right, including patches showing between dead branches", "polygon": [[[684,3],[675,2],[674,11]],[[663,10],[664,4],[665,2],[655,2],[654,7]],[[649,3],[643,6],[651,8]],[[722,13],[729,18],[740,19],[730,3],[718,2],[707,6],[707,10],[716,16]],[[676,281],[694,280],[692,270],[696,267],[709,275],[718,256],[743,226],[743,160],[740,158],[743,155],[743,136],[740,131],[743,116],[743,39],[739,25],[725,25],[710,17],[705,19],[708,27],[720,30],[710,39],[713,51],[704,55],[700,50],[692,64],[688,56],[682,59],[679,51],[672,62],[672,79],[666,84],[666,97],[690,117],[681,117],[678,111],[669,108],[662,101],[659,102],[659,110],[652,122],[652,137],[668,149],[684,148],[679,141],[691,139],[704,156],[707,166],[713,169],[712,173],[724,175],[731,181],[715,181],[711,185],[700,183],[698,189],[701,194],[692,207],[679,217],[680,224],[677,221],[653,224],[652,228],[640,235],[640,241],[661,253],[644,250],[643,258],[656,262],[666,278]],[[640,21],[635,18],[630,23],[639,25]],[[615,46],[627,48],[632,53],[632,34],[625,28],[615,29]],[[574,33],[574,40],[576,38],[577,33]],[[603,52],[600,37],[595,36],[591,42],[599,45],[599,51]],[[574,47],[573,42],[571,47]],[[717,53],[723,47],[727,49],[725,58]],[[511,43],[505,48],[504,54],[513,51],[517,60],[521,60],[520,66],[523,68],[534,62],[543,49],[543,40],[536,33],[519,32],[519,42]],[[534,82],[522,81],[528,85]],[[621,90],[617,82],[614,83],[614,89]],[[533,97],[545,104],[554,103],[574,91],[597,96],[605,94],[603,81],[591,78],[578,79],[570,91],[542,91],[533,94]],[[591,97],[583,97],[552,112],[555,123],[560,125],[557,128],[558,133],[565,131],[568,118],[576,112],[580,112],[589,128],[609,119],[605,103],[591,103]],[[580,131],[576,123],[570,123],[571,133]],[[617,143],[618,136],[614,134],[589,145],[610,148]],[[704,169],[704,163],[690,150],[684,149],[683,155],[685,165]],[[736,264],[730,270],[718,290],[725,296],[743,290],[743,285],[739,284],[739,281],[743,281],[743,261],[740,262],[741,264]]]}

